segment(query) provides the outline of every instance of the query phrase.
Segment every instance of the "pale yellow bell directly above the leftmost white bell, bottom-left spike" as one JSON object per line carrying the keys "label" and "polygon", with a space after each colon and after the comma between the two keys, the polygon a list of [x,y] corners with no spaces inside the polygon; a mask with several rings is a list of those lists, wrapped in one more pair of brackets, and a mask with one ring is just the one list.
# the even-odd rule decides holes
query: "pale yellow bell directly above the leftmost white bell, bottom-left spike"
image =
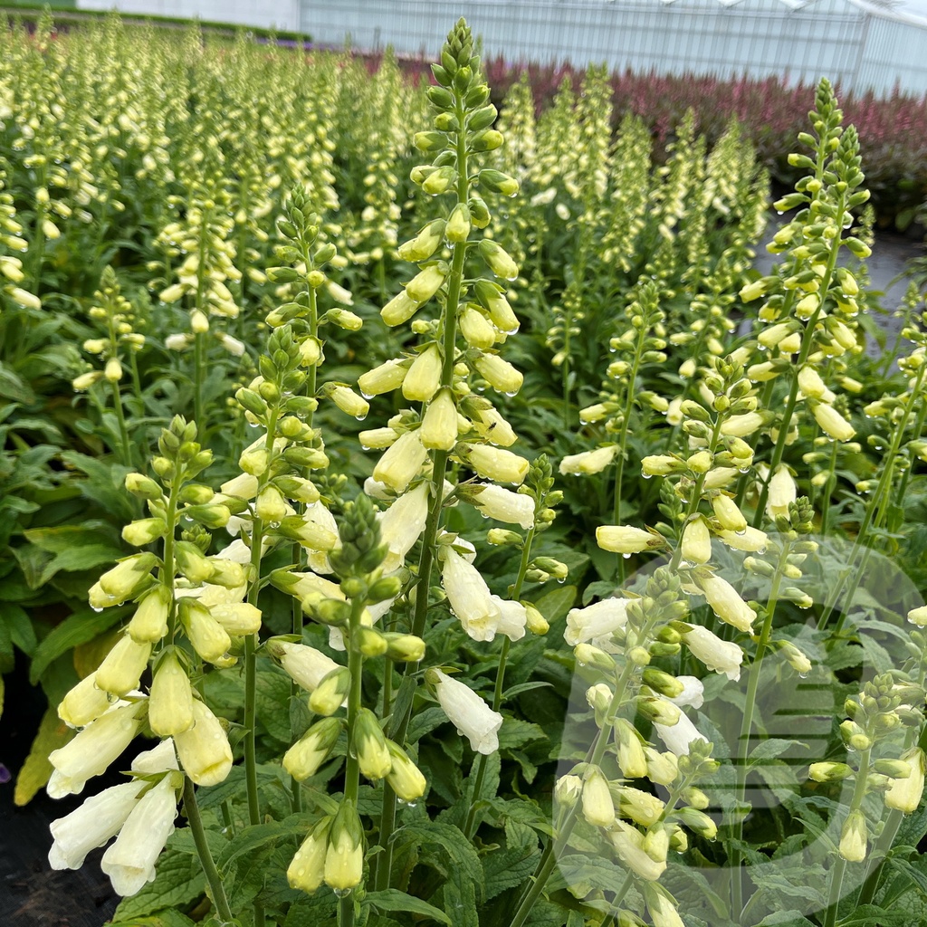
{"label": "pale yellow bell directly above the leftmost white bell, bottom-left spike", "polygon": [[117,702],[72,741],[53,750],[48,755],[54,767],[48,780],[48,794],[52,798],[80,794],[88,779],[106,772],[141,730],[145,701]]}

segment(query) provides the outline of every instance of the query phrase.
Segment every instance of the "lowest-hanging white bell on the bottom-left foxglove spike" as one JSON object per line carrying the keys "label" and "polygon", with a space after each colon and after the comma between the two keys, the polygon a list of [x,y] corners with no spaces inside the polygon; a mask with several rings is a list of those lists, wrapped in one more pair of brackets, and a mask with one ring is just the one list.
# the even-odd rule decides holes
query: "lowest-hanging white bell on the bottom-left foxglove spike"
{"label": "lowest-hanging white bell on the bottom-left foxglove spike", "polygon": [[168,773],[142,795],[116,842],[103,854],[100,869],[109,876],[117,895],[135,895],[154,880],[155,862],[174,829],[179,781],[183,778],[178,773]]}

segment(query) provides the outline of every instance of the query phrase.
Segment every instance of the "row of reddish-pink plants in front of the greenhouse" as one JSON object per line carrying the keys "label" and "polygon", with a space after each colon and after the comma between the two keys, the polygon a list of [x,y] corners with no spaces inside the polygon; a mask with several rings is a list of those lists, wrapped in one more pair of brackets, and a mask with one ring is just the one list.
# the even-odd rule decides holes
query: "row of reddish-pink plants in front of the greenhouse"
{"label": "row of reddish-pink plants in front of the greenhouse", "polygon": [[[413,73],[426,71],[421,62],[408,61],[405,66]],[[575,87],[583,77],[582,69],[568,64],[513,64],[502,57],[488,60],[486,70],[497,106],[527,70],[539,113],[551,105],[565,77]],[[665,146],[686,110],[692,108],[697,131],[713,143],[730,117],[736,116],[774,182],[791,187],[798,178],[786,159],[794,148],[795,135],[806,128],[807,112],[814,103],[812,84],[789,84],[779,77],[721,80],[625,71],[612,75],[612,85],[616,125],[625,113],[637,113],[651,126],[658,146]],[[839,85],[837,95],[844,124],[855,125],[859,133],[863,169],[878,221],[906,228],[927,199],[927,96],[897,91],[887,98],[842,94]]]}

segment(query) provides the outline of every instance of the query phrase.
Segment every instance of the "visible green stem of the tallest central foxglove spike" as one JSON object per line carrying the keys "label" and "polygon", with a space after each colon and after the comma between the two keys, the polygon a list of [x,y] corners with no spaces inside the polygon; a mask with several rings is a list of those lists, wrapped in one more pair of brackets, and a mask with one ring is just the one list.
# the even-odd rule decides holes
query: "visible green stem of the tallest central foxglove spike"
{"label": "visible green stem of the tallest central foxglove spike", "polygon": [[[455,92],[456,117],[460,126],[464,126],[464,102],[460,94]],[[466,133],[463,129],[457,133],[457,201],[467,202],[470,193],[470,180],[467,171]],[[451,258],[451,272],[448,274],[448,292],[442,313],[441,334],[441,387],[451,387],[453,384],[454,361],[457,349],[457,310],[460,304],[461,291],[464,282],[464,260],[466,260],[466,242],[457,242],[453,248]],[[448,451],[435,451],[431,466],[431,493],[432,503],[425,521],[425,531],[422,536],[422,553],[418,563],[418,582],[415,587],[415,610],[413,613],[412,633],[416,637],[424,637],[425,624],[428,616],[428,593],[431,589],[431,572],[435,562],[435,540],[438,538],[438,526],[444,502],[444,475],[447,472]],[[403,678],[413,678],[418,671],[418,664],[407,663]],[[409,721],[412,718],[412,704],[399,719],[394,740],[400,746],[405,744],[406,733],[409,730]],[[378,844],[382,852],[376,860],[374,887],[382,891],[389,887],[389,878],[392,871],[392,833],[396,827],[396,794],[389,787],[388,782],[383,786],[383,805],[380,812],[380,832]]]}

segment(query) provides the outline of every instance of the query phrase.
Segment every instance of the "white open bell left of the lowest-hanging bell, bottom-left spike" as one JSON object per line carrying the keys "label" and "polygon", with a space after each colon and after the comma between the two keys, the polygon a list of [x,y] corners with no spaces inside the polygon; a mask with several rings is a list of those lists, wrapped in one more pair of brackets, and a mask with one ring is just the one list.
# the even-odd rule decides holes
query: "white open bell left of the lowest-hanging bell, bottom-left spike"
{"label": "white open bell left of the lowest-hanging bell, bottom-left spike", "polygon": [[120,832],[145,782],[123,782],[88,798],[82,806],[51,823],[55,843],[48,851],[52,869],[80,869],[87,854]]}

